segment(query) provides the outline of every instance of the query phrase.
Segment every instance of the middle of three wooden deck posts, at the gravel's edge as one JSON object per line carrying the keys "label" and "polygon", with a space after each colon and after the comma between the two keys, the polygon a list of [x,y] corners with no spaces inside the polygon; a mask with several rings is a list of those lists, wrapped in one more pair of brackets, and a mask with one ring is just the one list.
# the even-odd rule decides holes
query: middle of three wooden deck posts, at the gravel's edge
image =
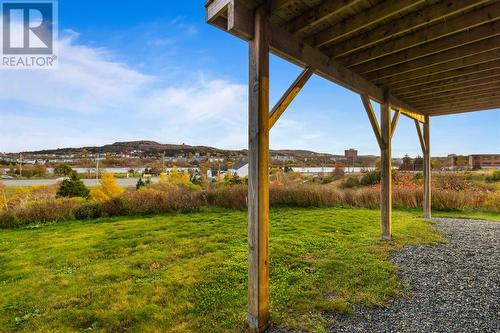
{"label": "middle of three wooden deck posts, at the gravel's edge", "polygon": [[380,105],[380,130],[383,145],[380,146],[380,227],[382,240],[390,240],[392,215],[392,156],[391,156],[391,108],[388,102]]}

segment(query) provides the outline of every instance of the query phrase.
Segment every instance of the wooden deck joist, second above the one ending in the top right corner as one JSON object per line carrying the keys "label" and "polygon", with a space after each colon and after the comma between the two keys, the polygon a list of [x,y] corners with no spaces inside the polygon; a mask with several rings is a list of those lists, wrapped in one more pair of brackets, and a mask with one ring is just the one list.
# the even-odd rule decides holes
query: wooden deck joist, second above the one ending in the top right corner
{"label": "wooden deck joist, second above the one ending in the top right corner", "polygon": [[354,17],[350,17],[333,27],[327,28],[307,38],[306,42],[315,47],[324,47],[325,45],[333,43],[336,40],[383,21],[423,2],[422,0],[382,1],[369,10],[363,11]]}

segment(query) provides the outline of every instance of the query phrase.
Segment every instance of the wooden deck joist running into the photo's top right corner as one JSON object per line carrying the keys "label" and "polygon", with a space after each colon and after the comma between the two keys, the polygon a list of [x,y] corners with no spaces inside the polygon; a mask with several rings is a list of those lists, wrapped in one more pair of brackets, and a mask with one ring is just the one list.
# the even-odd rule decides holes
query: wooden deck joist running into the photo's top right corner
{"label": "wooden deck joist running into the photo's top right corner", "polygon": [[[488,22],[493,22],[500,18],[500,2],[493,3],[487,7],[481,7],[466,14],[455,16],[442,23],[434,24],[424,29],[400,36],[395,39],[370,48],[369,50],[349,55],[349,67],[357,66],[378,58],[387,57],[390,54],[404,51],[424,45],[433,45],[433,41],[443,37],[453,37],[453,34],[467,31]],[[443,45],[447,45],[443,43]],[[446,46],[444,46],[446,47]],[[430,48],[435,50],[435,48]],[[409,50],[412,51],[412,50]],[[413,50],[416,52],[417,50]]]}

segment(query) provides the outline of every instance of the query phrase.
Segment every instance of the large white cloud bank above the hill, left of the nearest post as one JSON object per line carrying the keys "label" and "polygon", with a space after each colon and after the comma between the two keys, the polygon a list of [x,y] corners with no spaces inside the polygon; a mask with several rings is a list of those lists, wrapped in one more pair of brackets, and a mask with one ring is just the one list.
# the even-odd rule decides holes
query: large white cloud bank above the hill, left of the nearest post
{"label": "large white cloud bank above the hill, left of the nearest post", "polygon": [[0,131],[9,138],[0,151],[103,143],[97,138],[246,143],[246,86],[191,73],[162,83],[78,44],[74,31],[64,35],[57,69],[1,72]]}

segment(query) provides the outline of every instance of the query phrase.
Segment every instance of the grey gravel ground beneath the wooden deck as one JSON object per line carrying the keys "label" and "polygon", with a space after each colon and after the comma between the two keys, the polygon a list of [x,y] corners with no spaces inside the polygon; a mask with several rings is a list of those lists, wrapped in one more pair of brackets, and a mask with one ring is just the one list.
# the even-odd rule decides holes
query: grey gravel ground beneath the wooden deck
{"label": "grey gravel ground beneath the wooden deck", "polygon": [[411,297],[335,316],[330,332],[500,332],[500,223],[434,219],[447,244],[391,256]]}

